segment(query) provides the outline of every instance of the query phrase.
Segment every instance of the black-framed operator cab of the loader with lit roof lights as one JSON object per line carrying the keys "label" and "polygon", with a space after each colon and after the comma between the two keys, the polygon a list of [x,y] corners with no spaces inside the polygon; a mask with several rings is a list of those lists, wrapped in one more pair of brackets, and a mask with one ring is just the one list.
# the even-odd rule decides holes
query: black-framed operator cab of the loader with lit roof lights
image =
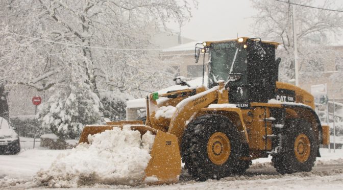
{"label": "black-framed operator cab of the loader with lit roof lights", "polygon": [[[229,102],[241,108],[275,98],[280,63],[280,58],[275,60],[275,50],[279,44],[246,37],[204,42],[201,51],[209,53],[208,87],[224,80],[229,88]],[[196,46],[195,57],[197,49]]]}

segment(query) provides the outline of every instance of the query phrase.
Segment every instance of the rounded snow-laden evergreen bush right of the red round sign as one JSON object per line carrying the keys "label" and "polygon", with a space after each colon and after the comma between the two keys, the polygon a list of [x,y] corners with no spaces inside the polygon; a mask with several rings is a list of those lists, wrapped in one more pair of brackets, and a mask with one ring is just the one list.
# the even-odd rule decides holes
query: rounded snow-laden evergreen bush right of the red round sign
{"label": "rounded snow-laden evergreen bush right of the red round sign", "polygon": [[38,120],[60,138],[79,137],[83,126],[100,120],[102,104],[89,85],[69,85],[39,106]]}

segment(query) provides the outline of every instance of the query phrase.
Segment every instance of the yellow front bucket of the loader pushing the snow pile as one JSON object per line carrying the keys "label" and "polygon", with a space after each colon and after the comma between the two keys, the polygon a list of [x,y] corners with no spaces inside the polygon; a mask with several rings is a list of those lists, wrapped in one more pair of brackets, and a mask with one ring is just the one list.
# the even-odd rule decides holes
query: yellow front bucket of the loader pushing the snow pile
{"label": "yellow front bucket of the loader pushing the snow pile", "polygon": [[[139,121],[140,122],[140,121]],[[129,124],[130,123],[130,124]],[[89,143],[88,135],[112,130],[114,127],[122,129],[124,125],[130,125],[131,130],[137,130],[141,135],[150,131],[156,135],[150,155],[148,167],[145,168],[145,176],[138,183],[146,184],[169,184],[177,183],[181,173],[181,156],[178,139],[175,135],[151,128],[147,125],[135,125],[134,122],[109,122],[108,125],[87,125],[80,136],[80,143]]]}

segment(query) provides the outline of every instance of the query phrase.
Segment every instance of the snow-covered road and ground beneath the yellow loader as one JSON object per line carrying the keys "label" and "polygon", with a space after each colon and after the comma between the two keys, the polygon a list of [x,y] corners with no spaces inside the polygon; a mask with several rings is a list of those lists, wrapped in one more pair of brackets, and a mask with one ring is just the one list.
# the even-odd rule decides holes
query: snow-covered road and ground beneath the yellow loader
{"label": "snow-covered road and ground beneath the yellow loader", "polygon": [[[33,176],[40,170],[47,170],[59,154],[72,150],[47,150],[39,147],[32,149],[32,139],[20,138],[22,150],[18,155],[0,156],[0,189],[39,188],[32,185]],[[25,141],[25,142],[23,142]],[[343,150],[335,153],[321,149],[311,172],[291,175],[278,174],[271,164],[271,158],[253,161],[251,168],[243,176],[227,177],[220,180],[196,182],[186,171],[177,184],[171,185],[104,185],[81,186],[81,189],[343,189]],[[95,161],[95,160],[94,160]],[[110,163],[109,163],[110,164]],[[73,189],[73,188],[71,188]]]}

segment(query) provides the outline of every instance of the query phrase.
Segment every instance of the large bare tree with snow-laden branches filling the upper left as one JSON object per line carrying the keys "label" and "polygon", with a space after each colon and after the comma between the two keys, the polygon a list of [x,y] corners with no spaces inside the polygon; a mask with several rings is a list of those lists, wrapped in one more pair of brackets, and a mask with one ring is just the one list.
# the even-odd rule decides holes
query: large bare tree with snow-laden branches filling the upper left
{"label": "large bare tree with snow-laden branches filling the upper left", "polygon": [[[65,64],[60,65],[60,58],[69,49],[78,49],[75,56],[83,57],[77,63],[82,66],[80,72],[87,76],[86,82],[95,93],[97,85],[102,85],[136,96],[167,84],[166,77],[170,76],[157,61],[156,52],[117,49],[150,49],[151,33],[170,20],[182,25],[190,9],[186,1],[175,0],[3,0],[1,3],[6,20],[2,27],[7,28],[3,32],[7,49],[3,59],[11,65],[9,70],[17,73],[15,80],[10,74],[7,80],[42,90],[40,81],[48,79],[44,87],[47,89],[59,81],[57,76],[63,76],[61,68],[75,64],[63,60]],[[96,48],[104,46],[110,48]],[[23,66],[28,70],[21,70]],[[40,70],[32,72],[30,68]]]}

